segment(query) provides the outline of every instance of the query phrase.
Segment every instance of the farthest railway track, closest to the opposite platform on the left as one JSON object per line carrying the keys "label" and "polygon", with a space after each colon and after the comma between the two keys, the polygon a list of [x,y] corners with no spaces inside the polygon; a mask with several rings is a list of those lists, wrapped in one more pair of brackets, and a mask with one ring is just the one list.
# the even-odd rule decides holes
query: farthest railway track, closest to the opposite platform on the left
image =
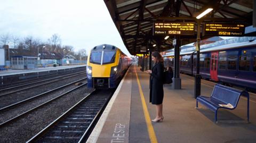
{"label": "farthest railway track, closest to the opposite platform on the left", "polygon": [[[21,88],[21,89],[18,89],[18,90],[13,90],[13,91],[9,91],[9,92],[4,92],[4,93],[0,94],[0,97],[1,97],[1,96],[5,96],[5,95],[9,95],[9,94],[13,94],[13,93],[15,93],[15,92],[19,92],[19,91],[22,91],[22,90],[27,90],[27,89],[30,89],[30,88],[35,88],[35,87],[47,85],[47,84],[49,84],[49,83],[53,83],[53,82],[56,82],[56,81],[60,81],[60,80],[64,80],[64,79],[68,79],[68,78],[72,78],[72,77],[76,77],[76,76],[78,76],[78,75],[83,75],[83,74],[85,74],[84,71],[82,71],[82,72],[77,72],[77,73],[72,73],[72,74],[67,74],[67,75],[61,75],[61,76],[59,76],[59,77],[54,77],[54,78],[51,78],[51,79],[45,79],[45,80],[41,80],[41,81],[26,83],[26,84],[24,84],[24,85],[19,85],[19,86],[15,86],[15,87],[0,89],[0,92],[4,92],[4,91],[6,91],[6,90],[8,91],[8,90],[16,89],[16,88]],[[45,82],[45,81],[48,81],[48,82]],[[40,83],[40,82],[44,82],[44,83]],[[35,85],[36,83],[40,83],[40,84]],[[34,85],[34,86],[29,86],[29,85]],[[22,87],[24,87],[24,86],[29,86],[29,87],[22,88]]]}

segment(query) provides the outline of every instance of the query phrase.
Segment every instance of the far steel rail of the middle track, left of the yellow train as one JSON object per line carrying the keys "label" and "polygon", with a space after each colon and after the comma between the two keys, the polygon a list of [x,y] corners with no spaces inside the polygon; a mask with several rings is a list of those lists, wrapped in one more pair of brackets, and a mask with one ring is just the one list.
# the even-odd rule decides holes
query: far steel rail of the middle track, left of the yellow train
{"label": "far steel rail of the middle track, left of the yellow train", "polygon": [[14,107],[14,106],[17,106],[17,105],[19,105],[19,104],[21,104],[21,103],[28,102],[28,101],[29,101],[29,100],[31,100],[31,99],[34,99],[34,98],[39,97],[39,96],[42,96],[42,95],[49,94],[50,92],[53,92],[53,91],[58,90],[58,89],[61,89],[61,88],[63,88],[63,87],[67,87],[67,86],[69,86],[69,85],[71,85],[71,84],[73,84],[73,83],[76,83],[76,82],[79,82],[79,81],[82,81],[82,80],[85,80],[85,79],[87,79],[87,78],[83,78],[83,79],[79,79],[79,80],[76,80],[76,81],[70,82],[70,83],[68,83],[68,84],[66,84],[66,85],[63,85],[63,86],[60,86],[60,87],[54,88],[54,89],[52,89],[52,90],[49,90],[49,91],[43,92],[43,93],[41,93],[41,94],[35,95],[35,96],[33,96],[33,97],[30,97],[30,98],[27,98],[27,99],[21,100],[20,102],[17,102],[17,103],[14,103],[14,104],[11,104],[11,105],[8,105],[8,106],[5,106],[5,107],[2,107],[2,108],[0,108],[0,112],[5,111],[5,110],[8,110],[8,109],[10,109],[10,108],[12,108],[12,107]]}

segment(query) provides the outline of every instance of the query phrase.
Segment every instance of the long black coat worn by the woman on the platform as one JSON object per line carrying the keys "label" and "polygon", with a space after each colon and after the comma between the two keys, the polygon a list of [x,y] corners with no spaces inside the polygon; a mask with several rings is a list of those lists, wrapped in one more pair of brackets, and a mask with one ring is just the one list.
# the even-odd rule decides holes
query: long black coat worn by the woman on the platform
{"label": "long black coat worn by the woman on the platform", "polygon": [[150,74],[150,98],[152,104],[162,104],[164,98],[163,89],[164,65],[157,63],[152,68]]}

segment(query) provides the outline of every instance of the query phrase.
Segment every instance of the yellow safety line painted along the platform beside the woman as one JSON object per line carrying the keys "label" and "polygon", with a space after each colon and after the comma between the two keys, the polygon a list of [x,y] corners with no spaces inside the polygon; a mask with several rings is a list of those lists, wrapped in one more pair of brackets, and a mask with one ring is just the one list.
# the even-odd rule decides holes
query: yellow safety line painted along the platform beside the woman
{"label": "yellow safety line painted along the platform beside the woman", "polygon": [[136,74],[137,82],[138,82],[138,86],[139,86],[141,104],[142,104],[142,107],[143,107],[143,112],[144,112],[145,120],[146,120],[146,123],[147,123],[149,139],[150,139],[151,143],[157,143],[156,134],[155,134],[153,125],[151,124],[151,120],[150,120],[150,116],[149,116],[149,113],[148,113],[147,104],[145,102],[145,97],[144,97],[142,89],[141,89],[140,80],[138,78],[138,74],[137,74],[137,71],[135,69],[135,66],[134,66],[134,70],[135,70],[135,74]]}

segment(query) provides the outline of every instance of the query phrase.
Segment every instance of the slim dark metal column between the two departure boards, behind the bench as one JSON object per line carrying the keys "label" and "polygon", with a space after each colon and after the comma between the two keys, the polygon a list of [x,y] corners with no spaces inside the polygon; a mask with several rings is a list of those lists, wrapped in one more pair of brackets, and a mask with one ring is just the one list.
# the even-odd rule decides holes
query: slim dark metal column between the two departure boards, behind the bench
{"label": "slim dark metal column between the two departure boards, behind the bench", "polygon": [[201,94],[201,75],[200,75],[200,21],[197,22],[197,45],[196,45],[196,75],[194,85],[194,97],[196,98]]}

